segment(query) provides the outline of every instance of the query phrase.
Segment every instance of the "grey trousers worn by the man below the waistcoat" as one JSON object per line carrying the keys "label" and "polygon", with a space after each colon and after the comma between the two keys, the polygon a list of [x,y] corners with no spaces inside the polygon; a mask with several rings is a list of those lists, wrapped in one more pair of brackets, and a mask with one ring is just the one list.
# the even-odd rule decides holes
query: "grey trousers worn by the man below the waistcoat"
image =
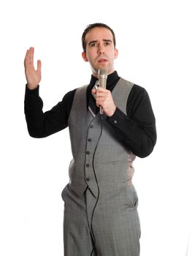
{"label": "grey trousers worn by the man below the waistcoat", "polygon": [[64,256],[139,256],[137,193],[131,187],[78,197],[69,187],[64,200]]}

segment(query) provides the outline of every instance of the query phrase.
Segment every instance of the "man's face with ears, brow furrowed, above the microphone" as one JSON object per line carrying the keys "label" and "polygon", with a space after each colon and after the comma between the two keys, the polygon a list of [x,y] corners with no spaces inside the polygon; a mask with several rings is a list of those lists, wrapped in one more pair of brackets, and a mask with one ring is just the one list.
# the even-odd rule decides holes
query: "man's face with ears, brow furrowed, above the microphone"
{"label": "man's face with ears, brow furrowed, above the microphone", "polygon": [[82,53],[84,61],[89,61],[93,75],[97,78],[98,69],[107,69],[107,74],[115,71],[114,60],[118,50],[113,44],[109,29],[96,27],[88,31],[85,37],[86,52]]}

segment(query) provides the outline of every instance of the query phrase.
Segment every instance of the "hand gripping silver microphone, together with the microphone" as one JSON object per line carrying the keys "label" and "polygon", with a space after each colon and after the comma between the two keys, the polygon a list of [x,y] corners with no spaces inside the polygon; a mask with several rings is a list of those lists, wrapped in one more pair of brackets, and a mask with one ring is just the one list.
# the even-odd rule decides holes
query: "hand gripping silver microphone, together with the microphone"
{"label": "hand gripping silver microphone, together with the microphone", "polygon": [[98,78],[99,88],[92,90],[93,94],[96,94],[96,105],[100,108],[99,113],[101,115],[104,113],[106,116],[112,116],[115,113],[116,106],[111,92],[106,89],[107,70],[99,69]]}

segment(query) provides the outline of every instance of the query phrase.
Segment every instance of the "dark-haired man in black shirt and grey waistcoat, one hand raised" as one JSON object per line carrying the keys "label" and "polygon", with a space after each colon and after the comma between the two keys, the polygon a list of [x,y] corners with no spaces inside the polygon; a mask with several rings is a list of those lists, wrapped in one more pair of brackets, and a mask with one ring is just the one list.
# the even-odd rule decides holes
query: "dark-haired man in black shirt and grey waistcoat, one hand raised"
{"label": "dark-haired man in black shirt and grey waistcoat, one hand raised", "polygon": [[[135,156],[147,157],[156,144],[156,125],[147,91],[118,76],[115,34],[103,23],[83,32],[88,86],[69,91],[50,111],[39,97],[41,61],[26,52],[25,113],[28,132],[43,138],[69,127],[73,159],[64,199],[64,255],[138,256],[137,192],[131,182]],[[97,86],[99,70],[107,88]],[[101,108],[103,115],[99,113]],[[100,116],[102,118],[100,118]]]}

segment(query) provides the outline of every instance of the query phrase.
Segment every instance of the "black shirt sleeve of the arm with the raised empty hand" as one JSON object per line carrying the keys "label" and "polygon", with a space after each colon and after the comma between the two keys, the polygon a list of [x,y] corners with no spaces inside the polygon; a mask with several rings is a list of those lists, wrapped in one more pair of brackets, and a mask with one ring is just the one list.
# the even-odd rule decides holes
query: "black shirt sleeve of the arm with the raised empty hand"
{"label": "black shirt sleeve of the arm with the raised empty hand", "polygon": [[51,110],[43,113],[43,102],[37,89],[29,90],[26,86],[24,112],[28,133],[34,138],[44,138],[68,126],[69,113],[72,108],[74,91],[69,91],[61,102]]}

